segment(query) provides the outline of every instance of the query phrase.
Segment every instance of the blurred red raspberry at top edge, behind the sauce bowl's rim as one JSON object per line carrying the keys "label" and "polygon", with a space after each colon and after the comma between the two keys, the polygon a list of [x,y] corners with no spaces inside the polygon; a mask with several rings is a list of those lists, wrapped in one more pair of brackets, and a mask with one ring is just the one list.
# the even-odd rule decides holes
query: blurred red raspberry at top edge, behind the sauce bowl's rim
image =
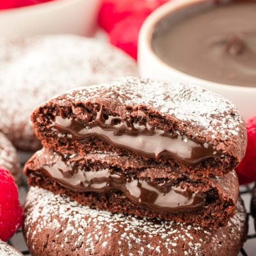
{"label": "blurred red raspberry at top edge, behind the sauce bowl's rim", "polygon": [[107,32],[131,15],[147,17],[157,7],[169,0],[104,0],[99,12],[99,25]]}

